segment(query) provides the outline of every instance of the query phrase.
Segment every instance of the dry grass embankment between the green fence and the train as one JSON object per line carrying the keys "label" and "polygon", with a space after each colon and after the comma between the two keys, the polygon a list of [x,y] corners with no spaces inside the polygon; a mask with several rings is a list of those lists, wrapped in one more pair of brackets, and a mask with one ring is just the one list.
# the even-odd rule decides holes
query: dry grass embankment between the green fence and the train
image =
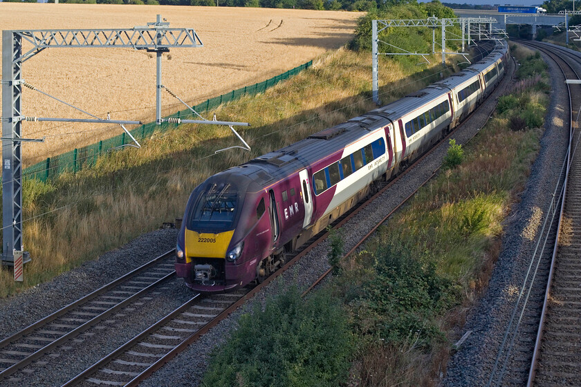
{"label": "dry grass embankment between the green fence and the train", "polygon": [[[432,59],[434,65],[427,69],[381,66],[382,100],[434,82],[440,68],[437,58]],[[48,281],[181,217],[190,192],[205,178],[371,110],[370,90],[369,54],[337,50],[264,95],[215,111],[219,120],[252,124],[249,129],[237,127],[250,152],[233,149],[214,155],[217,149],[240,144],[230,129],[183,125],[143,141],[141,149],[112,152],[76,176],[46,184],[25,181],[23,240],[33,260],[25,267],[22,284],[12,280],[12,270],[1,271],[0,296]]]}

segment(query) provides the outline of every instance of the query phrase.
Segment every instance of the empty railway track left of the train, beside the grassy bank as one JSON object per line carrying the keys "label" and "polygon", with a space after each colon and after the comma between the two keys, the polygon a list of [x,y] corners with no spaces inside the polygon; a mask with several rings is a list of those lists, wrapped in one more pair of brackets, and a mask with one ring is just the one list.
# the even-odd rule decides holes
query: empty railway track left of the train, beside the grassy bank
{"label": "empty railway track left of the train, beside the grassy bank", "polygon": [[112,317],[147,301],[150,292],[175,279],[175,274],[172,250],[1,340],[0,381],[87,330],[109,325]]}

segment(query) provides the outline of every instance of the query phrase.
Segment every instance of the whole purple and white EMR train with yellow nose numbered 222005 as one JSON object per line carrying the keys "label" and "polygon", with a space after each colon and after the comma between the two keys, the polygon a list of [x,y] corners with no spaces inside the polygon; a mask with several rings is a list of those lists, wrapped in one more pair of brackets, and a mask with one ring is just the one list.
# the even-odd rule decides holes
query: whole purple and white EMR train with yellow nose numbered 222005
{"label": "whole purple and white EMR train with yellow nose numbered 222005", "polygon": [[262,281],[296,249],[403,171],[504,75],[508,47],[421,91],[210,176],[187,201],[176,272],[199,292]]}

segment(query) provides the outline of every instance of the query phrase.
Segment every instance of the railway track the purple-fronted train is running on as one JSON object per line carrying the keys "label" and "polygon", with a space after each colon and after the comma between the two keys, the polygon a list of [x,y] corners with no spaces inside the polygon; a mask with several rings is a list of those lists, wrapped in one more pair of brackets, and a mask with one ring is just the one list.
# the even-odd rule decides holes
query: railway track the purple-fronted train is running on
{"label": "railway track the purple-fronted train is running on", "polygon": [[[454,132],[450,133],[450,135],[453,134]],[[445,142],[450,135],[442,141]],[[426,153],[426,155],[417,160],[414,165],[421,163],[429,154],[430,153]],[[409,168],[408,171],[412,168]],[[430,178],[432,178],[435,173],[436,172],[432,173]],[[367,207],[369,203],[378,198],[402,176],[382,185],[374,196],[335,222],[333,228],[337,229],[342,227],[342,225],[347,223],[351,218],[353,218],[353,216],[356,216],[359,211]],[[429,181],[430,178],[425,180],[425,182]],[[425,182],[423,184],[425,184]],[[421,185],[416,187],[416,190],[420,187]],[[412,195],[407,196],[407,198]],[[403,205],[407,198],[400,202],[400,205]],[[394,211],[391,211],[391,213]],[[387,216],[383,218],[378,225],[383,223],[386,218]],[[371,230],[365,238],[360,240],[356,247],[360,246],[375,229],[376,228]],[[63,387],[95,385],[137,386],[140,381],[147,379],[147,377],[149,377],[153,372],[166,364],[167,361],[199,339],[202,334],[208,332],[210,328],[239,308],[239,306],[243,305],[243,303],[248,299],[252,298],[252,296],[259,292],[263,287],[273,281],[276,276],[279,276],[282,272],[292,267],[295,262],[325,240],[328,234],[328,232],[319,234],[300,252],[287,255],[286,261],[288,261],[288,263],[286,263],[281,270],[276,272],[275,275],[269,276],[263,283],[252,288],[252,290],[248,292],[212,296],[201,296],[196,294],[190,301],[187,301],[187,303],[182,305],[180,308],[168,314],[164,319],[158,321],[158,323],[151,325],[150,328],[141,334],[138,334],[138,336],[118,348],[118,350],[112,352],[90,368],[84,370],[84,372],[64,384]],[[353,249],[356,247],[353,247]],[[320,283],[327,274],[329,274],[329,272],[320,276],[320,278],[317,279],[308,290],[311,290],[317,283]],[[210,308],[212,313],[208,312],[208,308]],[[204,310],[206,310],[206,312],[204,312]]]}

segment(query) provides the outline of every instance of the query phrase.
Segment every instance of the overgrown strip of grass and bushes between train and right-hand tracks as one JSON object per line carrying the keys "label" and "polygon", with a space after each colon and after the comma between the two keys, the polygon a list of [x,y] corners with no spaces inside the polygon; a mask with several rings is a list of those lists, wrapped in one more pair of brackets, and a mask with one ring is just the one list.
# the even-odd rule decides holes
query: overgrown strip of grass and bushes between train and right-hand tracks
{"label": "overgrown strip of grass and bushes between train and right-hand tracks", "polygon": [[[242,319],[241,328],[216,352],[205,386],[437,384],[452,351],[452,328],[463,323],[488,282],[501,247],[502,220],[522,191],[540,147],[549,87],[546,65],[531,53],[513,46],[522,63],[520,80],[510,95],[499,99],[494,117],[464,153],[458,147],[449,151],[447,164],[459,164],[443,168],[380,227],[365,251],[335,263],[336,275],[320,293],[344,313],[321,312],[335,321],[319,321],[315,311],[321,308],[317,300],[322,295],[302,308],[292,292],[268,301],[264,312]],[[331,245],[329,256],[334,258],[340,238],[333,238]],[[264,327],[254,331],[260,343],[237,350],[250,339],[252,324]],[[321,330],[336,340],[330,343]],[[295,340],[288,346],[281,337]],[[317,349],[316,361],[305,355],[310,352],[304,347]],[[349,366],[337,368],[344,358],[337,347],[352,349],[349,379]],[[269,359],[278,354],[287,361],[284,377],[269,371]],[[296,382],[295,375],[325,364],[335,377],[319,373],[317,381]]]}

